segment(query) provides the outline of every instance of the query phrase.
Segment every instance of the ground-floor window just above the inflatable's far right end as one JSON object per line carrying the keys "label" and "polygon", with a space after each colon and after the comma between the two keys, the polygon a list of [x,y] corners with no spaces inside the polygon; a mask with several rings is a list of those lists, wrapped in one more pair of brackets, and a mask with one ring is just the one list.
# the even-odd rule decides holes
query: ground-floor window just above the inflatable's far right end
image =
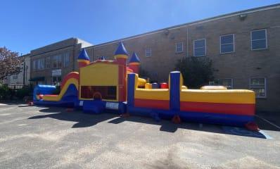
{"label": "ground-floor window just above the inflatable's far right end", "polygon": [[255,92],[257,98],[265,98],[267,96],[267,82],[265,78],[250,78],[250,89]]}

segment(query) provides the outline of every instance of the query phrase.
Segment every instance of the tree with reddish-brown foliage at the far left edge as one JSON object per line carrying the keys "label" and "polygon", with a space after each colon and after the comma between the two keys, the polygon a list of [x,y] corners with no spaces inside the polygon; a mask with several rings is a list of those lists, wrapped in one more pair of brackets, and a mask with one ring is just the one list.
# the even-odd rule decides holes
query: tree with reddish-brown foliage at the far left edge
{"label": "tree with reddish-brown foliage at the far left edge", "polygon": [[0,47],[0,82],[9,75],[17,75],[21,72],[20,63],[21,58],[18,53]]}

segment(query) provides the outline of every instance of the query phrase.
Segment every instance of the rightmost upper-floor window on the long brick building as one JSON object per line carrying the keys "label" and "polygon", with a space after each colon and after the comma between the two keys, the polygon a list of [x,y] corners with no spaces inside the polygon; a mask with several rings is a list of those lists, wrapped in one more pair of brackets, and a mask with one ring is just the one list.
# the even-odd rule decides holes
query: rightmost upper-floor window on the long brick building
{"label": "rightmost upper-floor window on the long brick building", "polygon": [[267,49],[267,30],[251,31],[251,49]]}

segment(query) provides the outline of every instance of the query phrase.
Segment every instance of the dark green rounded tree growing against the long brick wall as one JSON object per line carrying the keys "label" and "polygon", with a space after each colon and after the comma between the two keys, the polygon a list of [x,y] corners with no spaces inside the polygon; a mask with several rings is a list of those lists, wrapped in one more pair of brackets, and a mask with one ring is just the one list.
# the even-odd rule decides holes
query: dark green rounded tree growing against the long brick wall
{"label": "dark green rounded tree growing against the long brick wall", "polygon": [[212,61],[207,57],[185,57],[177,61],[175,68],[184,78],[184,85],[199,88],[214,79]]}

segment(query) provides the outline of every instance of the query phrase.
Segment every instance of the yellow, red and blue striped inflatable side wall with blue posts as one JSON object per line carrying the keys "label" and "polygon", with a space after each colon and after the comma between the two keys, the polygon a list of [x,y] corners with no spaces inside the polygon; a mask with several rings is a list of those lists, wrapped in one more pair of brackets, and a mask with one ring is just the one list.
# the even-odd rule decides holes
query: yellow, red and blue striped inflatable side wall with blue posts
{"label": "yellow, red and blue striped inflatable side wall with blue posts", "polygon": [[182,89],[182,75],[170,73],[169,89],[139,89],[138,75],[128,75],[127,111],[155,120],[179,115],[198,123],[244,126],[255,115],[255,93],[243,89]]}

